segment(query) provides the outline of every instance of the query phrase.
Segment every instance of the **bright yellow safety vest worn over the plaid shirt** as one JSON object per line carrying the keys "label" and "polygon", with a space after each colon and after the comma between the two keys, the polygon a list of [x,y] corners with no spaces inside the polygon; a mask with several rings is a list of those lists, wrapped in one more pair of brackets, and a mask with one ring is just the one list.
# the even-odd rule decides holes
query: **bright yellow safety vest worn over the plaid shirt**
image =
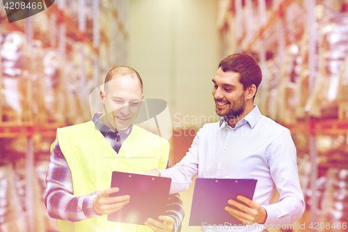
{"label": "bright yellow safety vest worn over the plaid shirt", "polygon": [[[72,173],[74,196],[106,190],[111,186],[112,171],[164,170],[168,162],[168,141],[136,125],[118,153],[93,121],[58,128],[56,139]],[[148,226],[109,222],[107,215],[80,222],[58,220],[58,224],[64,232],[152,231]]]}

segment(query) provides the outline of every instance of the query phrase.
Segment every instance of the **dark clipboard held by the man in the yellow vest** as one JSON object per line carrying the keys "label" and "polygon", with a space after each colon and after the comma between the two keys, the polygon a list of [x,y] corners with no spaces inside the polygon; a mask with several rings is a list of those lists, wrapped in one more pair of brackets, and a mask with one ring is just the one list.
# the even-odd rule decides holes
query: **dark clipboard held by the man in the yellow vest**
{"label": "dark clipboard held by the man in the yellow vest", "polygon": [[120,210],[108,215],[110,222],[143,225],[149,217],[158,220],[159,215],[165,215],[171,178],[113,171],[111,187],[120,191],[110,196],[129,195],[130,199]]}

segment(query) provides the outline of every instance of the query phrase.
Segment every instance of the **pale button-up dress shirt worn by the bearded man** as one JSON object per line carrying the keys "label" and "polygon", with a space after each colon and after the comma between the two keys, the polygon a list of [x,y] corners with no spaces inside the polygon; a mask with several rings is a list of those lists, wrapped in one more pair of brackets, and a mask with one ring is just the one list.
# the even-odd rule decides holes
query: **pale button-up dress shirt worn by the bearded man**
{"label": "pale button-up dress shirt worn by the bearded man", "polygon": [[[187,190],[197,174],[200,178],[257,179],[253,199],[266,209],[268,228],[291,224],[305,209],[290,130],[262,116],[257,106],[235,128],[223,118],[203,125],[185,157],[173,168],[160,172],[172,178],[171,194]],[[276,188],[279,202],[270,204]],[[237,230],[202,227],[203,231],[262,229],[259,224]]]}

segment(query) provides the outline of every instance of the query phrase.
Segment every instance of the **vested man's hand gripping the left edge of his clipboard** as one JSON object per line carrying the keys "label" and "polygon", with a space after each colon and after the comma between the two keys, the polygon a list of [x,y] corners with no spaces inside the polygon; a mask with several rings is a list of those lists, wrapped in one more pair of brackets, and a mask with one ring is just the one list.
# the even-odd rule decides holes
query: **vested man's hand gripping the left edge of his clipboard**
{"label": "vested man's hand gripping the left edge of his clipboard", "polygon": [[114,192],[118,192],[118,187],[112,187],[97,194],[93,201],[93,207],[98,215],[109,215],[116,212],[125,204],[129,203],[129,196],[109,196]]}

